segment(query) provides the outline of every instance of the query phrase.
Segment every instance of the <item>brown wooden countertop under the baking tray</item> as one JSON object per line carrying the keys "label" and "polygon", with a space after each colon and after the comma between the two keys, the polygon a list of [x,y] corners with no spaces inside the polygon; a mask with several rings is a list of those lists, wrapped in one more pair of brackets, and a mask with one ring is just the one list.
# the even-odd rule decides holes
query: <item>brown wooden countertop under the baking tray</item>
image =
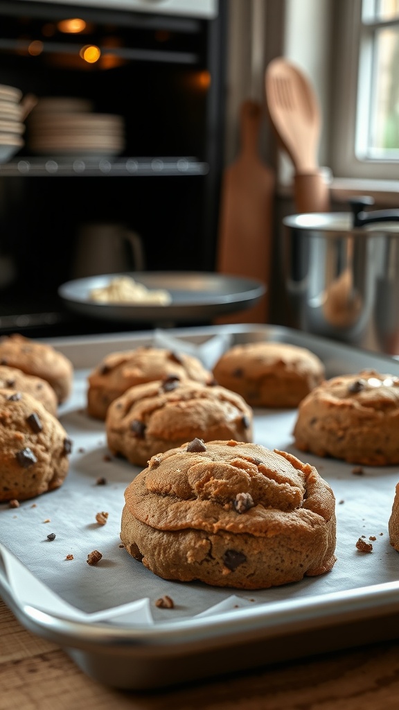
{"label": "brown wooden countertop under the baking tray", "polygon": [[398,710],[399,640],[173,689],[126,692],[83,674],[0,600],[1,710]]}

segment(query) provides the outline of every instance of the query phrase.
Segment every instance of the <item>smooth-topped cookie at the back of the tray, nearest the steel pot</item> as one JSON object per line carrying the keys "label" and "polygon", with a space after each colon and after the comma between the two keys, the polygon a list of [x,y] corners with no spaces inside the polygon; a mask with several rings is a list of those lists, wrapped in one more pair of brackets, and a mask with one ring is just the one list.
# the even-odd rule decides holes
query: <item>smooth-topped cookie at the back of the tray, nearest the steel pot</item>
{"label": "smooth-topped cookie at the back of the tray, nearest the steel pot", "polygon": [[293,408],[325,376],[310,350],[286,343],[234,345],[213,368],[219,385],[237,392],[251,407]]}

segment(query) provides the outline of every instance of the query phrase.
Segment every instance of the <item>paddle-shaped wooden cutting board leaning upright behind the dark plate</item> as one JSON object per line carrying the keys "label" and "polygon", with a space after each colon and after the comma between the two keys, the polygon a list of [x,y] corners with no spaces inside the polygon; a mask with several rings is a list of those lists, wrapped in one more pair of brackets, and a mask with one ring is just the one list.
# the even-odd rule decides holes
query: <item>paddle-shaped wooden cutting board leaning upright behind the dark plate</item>
{"label": "paddle-shaped wooden cutting board leaning upright behind the dark plate", "polygon": [[275,177],[258,155],[262,107],[248,99],[241,105],[241,148],[223,176],[217,271],[258,278],[266,294],[256,305],[219,317],[217,323],[268,322],[270,259]]}

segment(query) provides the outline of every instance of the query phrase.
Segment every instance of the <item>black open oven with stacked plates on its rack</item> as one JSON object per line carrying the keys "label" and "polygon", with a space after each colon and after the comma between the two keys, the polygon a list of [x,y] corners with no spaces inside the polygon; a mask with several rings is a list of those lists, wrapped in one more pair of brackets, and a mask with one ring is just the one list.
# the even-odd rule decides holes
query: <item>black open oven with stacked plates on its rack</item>
{"label": "black open oven with stacked plates on its rack", "polygon": [[[136,235],[141,256],[126,244],[126,270],[214,271],[226,15],[225,0],[0,1],[0,84],[37,99],[23,146],[0,164],[0,334],[124,329],[58,295],[94,273],[99,242],[83,257],[82,241],[96,226]],[[68,31],[77,20],[84,29]],[[62,126],[71,107],[106,117],[104,131],[116,116],[119,137],[54,138],[51,116]]]}

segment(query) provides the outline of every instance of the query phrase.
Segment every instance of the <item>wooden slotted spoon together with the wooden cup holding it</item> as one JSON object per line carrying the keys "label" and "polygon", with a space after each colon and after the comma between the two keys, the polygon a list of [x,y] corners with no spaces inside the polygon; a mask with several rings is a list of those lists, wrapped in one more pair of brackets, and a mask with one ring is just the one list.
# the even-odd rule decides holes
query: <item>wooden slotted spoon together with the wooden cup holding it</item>
{"label": "wooden slotted spoon together with the wooden cup holding it", "polygon": [[329,189],[317,160],[322,119],[310,82],[291,62],[278,57],[266,68],[265,87],[273,129],[294,164],[298,211],[329,212]]}

